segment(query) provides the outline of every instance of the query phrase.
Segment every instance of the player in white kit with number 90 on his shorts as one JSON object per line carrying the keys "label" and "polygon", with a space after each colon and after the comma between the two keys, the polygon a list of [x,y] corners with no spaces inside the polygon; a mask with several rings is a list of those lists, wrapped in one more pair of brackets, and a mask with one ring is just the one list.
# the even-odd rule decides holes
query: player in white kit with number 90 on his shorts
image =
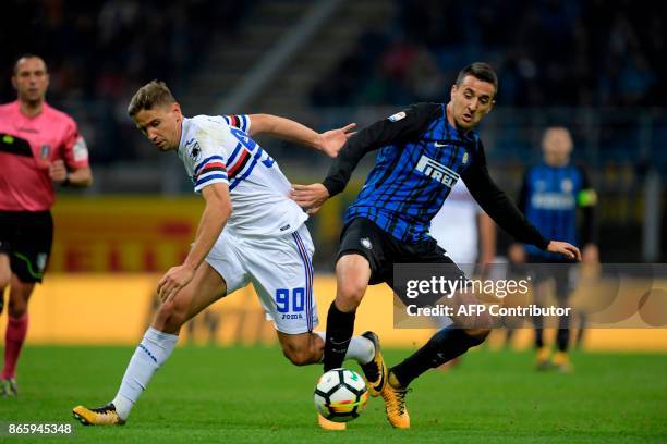
{"label": "player in white kit with number 90 on his shorts", "polygon": [[[74,416],[84,424],[124,423],[173,351],[181,326],[248,283],[274,321],[284,356],[296,366],[319,362],[324,334],[313,332],[318,319],[307,214],[289,198],[291,184],[276,161],[251,136],[265,133],[336,157],[354,124],[317,134],[267,114],[189,119],[167,85],[155,81],[138,89],[128,113],[160,151],[177,151],[206,208],[185,261],[158,283],[162,303],[117,396],[104,407],[75,407]],[[345,357],[355,359],[364,372],[378,372],[376,361],[384,362],[376,341],[372,332],[355,336]],[[344,428],[318,419],[323,428]]]}

